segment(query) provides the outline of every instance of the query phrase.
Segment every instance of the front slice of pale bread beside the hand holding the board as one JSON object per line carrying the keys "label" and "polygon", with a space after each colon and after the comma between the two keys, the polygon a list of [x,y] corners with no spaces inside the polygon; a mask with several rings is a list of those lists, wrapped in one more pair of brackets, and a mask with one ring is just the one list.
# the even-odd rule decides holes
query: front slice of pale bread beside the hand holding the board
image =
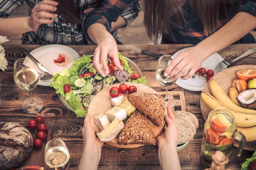
{"label": "front slice of pale bread beside the hand holding the board", "polygon": [[184,117],[177,117],[177,125],[180,131],[180,135],[177,141],[177,144],[183,144],[187,141],[191,141],[195,135],[195,125],[191,125],[191,122],[188,121],[189,119],[184,119]]}

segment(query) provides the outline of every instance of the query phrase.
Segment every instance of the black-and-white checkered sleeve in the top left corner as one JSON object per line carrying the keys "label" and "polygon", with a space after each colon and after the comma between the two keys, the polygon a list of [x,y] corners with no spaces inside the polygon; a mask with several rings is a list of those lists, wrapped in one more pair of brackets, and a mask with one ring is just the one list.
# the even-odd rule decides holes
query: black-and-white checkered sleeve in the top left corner
{"label": "black-and-white checkered sleeve in the top left corner", "polygon": [[7,18],[13,9],[21,6],[23,0],[0,0],[0,17]]}

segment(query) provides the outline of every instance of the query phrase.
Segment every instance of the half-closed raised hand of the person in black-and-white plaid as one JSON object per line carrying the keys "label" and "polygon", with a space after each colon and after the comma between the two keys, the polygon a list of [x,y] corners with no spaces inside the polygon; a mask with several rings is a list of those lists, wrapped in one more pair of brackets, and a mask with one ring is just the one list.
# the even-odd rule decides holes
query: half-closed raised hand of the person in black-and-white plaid
{"label": "half-closed raised hand of the person in black-and-white plaid", "polygon": [[50,18],[56,18],[58,15],[54,12],[57,10],[58,2],[54,0],[43,0],[35,5],[28,19],[28,24],[31,30],[36,31],[41,24],[52,23]]}

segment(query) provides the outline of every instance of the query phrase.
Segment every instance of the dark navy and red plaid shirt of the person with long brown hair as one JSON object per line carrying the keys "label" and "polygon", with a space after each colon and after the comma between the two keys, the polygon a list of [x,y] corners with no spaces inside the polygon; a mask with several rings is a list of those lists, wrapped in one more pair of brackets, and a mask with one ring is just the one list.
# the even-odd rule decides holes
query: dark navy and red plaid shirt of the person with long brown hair
{"label": "dark navy and red plaid shirt of the person with long brown hair", "polygon": [[[101,23],[106,26],[107,30],[110,30],[110,23],[117,20],[119,14],[126,9],[130,2],[131,0],[108,0],[105,1],[99,9],[92,11],[83,27],[86,38],[90,40],[86,34],[86,28],[93,23]],[[202,22],[189,5],[188,0],[177,0],[177,3],[184,13],[186,22],[182,23],[182,26],[180,27],[175,23],[174,16],[171,15],[169,18],[171,25],[168,27],[168,33],[162,35],[162,42],[172,44],[198,44],[207,38],[207,36],[204,35]],[[256,16],[256,0],[235,0],[233,8],[228,11],[228,13],[231,14],[228,18],[223,13],[224,7],[220,5],[219,8],[218,29],[225,25],[240,11]]]}

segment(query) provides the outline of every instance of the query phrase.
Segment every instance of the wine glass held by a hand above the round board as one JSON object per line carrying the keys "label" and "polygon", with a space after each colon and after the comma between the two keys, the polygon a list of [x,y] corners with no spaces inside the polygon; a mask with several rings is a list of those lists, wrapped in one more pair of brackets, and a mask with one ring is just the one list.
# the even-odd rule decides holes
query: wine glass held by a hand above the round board
{"label": "wine glass held by a hand above the round board", "polygon": [[173,77],[170,77],[170,78],[165,77],[164,72],[172,60],[173,60],[173,56],[171,55],[163,55],[162,57],[160,57],[158,60],[157,68],[155,72],[157,82],[162,86],[165,86],[165,99],[164,99],[165,104],[166,106],[170,106],[171,108],[175,106],[176,100],[173,100],[172,95],[168,95],[168,88],[169,86],[175,84],[176,79],[174,79]]}

